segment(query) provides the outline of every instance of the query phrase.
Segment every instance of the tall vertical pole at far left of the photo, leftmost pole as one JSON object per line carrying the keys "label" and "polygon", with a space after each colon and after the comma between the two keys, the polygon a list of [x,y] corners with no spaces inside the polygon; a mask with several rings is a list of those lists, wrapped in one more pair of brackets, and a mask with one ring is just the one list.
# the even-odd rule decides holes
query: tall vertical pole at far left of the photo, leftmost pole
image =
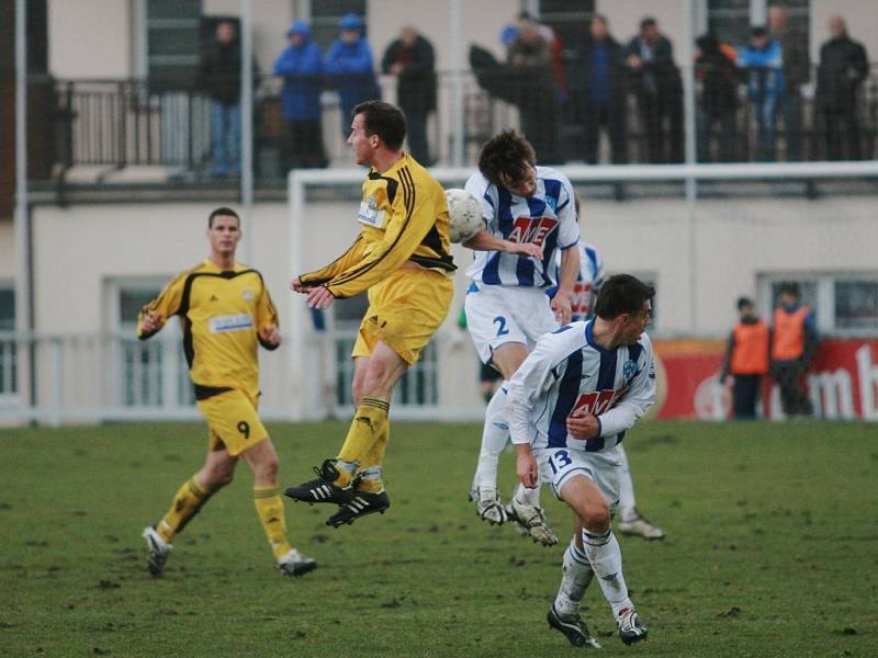
{"label": "tall vertical pole at far left of the photo, leftmost pole", "polygon": [[[27,9],[15,0],[15,329],[24,337],[33,329],[31,299],[31,214],[27,200]],[[33,361],[30,344],[19,345],[19,392],[33,402]],[[22,376],[26,373],[26,376]],[[26,383],[26,387],[25,387]],[[26,394],[30,390],[31,394]]]}

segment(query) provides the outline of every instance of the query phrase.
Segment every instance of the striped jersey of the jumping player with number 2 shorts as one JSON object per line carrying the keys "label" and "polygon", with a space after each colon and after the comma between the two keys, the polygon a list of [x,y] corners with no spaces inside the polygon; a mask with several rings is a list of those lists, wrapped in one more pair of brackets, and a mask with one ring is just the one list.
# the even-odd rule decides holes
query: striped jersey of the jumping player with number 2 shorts
{"label": "striped jersey of the jumping player with number 2 shorts", "polygon": [[475,259],[466,274],[486,285],[554,285],[555,253],[579,240],[573,188],[567,177],[549,167],[537,167],[533,196],[518,196],[476,171],[466,181],[466,191],[482,203],[485,230],[511,242],[536,242],[543,252],[538,261],[517,253],[474,251]]}

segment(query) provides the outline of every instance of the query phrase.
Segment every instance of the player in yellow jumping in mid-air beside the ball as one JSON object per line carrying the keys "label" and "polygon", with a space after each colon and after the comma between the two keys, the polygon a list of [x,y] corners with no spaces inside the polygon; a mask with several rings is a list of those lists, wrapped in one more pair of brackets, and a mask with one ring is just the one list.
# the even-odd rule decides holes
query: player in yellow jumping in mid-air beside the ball
{"label": "player in yellow jumping in mid-air beside the ball", "polygon": [[285,494],[294,500],[339,506],[326,523],[338,527],[384,512],[382,481],[393,388],[448,314],[455,270],[448,240],[444,191],[405,154],[405,117],[398,107],[367,101],[353,109],[348,144],[370,167],[357,219],[360,236],[325,268],[292,280],[312,308],[369,291],[369,309],[353,347],[357,412],[336,460],[318,477]]}

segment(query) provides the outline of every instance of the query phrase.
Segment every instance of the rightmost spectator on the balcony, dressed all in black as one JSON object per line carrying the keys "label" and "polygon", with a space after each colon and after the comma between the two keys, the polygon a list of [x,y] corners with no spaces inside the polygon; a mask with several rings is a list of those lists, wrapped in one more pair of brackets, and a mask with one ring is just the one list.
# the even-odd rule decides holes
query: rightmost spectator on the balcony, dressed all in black
{"label": "rightmost spectator on the balcony, dressed all in black", "polygon": [[[826,159],[863,158],[857,116],[857,91],[869,73],[863,44],[847,36],[844,19],[829,21],[830,38],[820,47],[818,69],[818,112],[825,131]],[[847,149],[843,149],[846,143]]]}

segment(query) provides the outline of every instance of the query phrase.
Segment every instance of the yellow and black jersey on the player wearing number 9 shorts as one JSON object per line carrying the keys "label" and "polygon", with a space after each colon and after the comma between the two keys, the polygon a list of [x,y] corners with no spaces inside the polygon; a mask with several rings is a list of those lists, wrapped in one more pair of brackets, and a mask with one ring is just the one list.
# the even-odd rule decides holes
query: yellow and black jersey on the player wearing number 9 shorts
{"label": "yellow and black jersey on the player wearing number 9 shorts", "polygon": [[218,393],[240,389],[256,399],[259,394],[259,329],[278,327],[278,311],[262,275],[236,263],[222,270],[210,259],[178,274],[158,297],[144,306],[137,319],[137,338],[145,340],[147,311],[161,318],[180,316],[183,352],[195,386],[195,397],[205,399]]}

